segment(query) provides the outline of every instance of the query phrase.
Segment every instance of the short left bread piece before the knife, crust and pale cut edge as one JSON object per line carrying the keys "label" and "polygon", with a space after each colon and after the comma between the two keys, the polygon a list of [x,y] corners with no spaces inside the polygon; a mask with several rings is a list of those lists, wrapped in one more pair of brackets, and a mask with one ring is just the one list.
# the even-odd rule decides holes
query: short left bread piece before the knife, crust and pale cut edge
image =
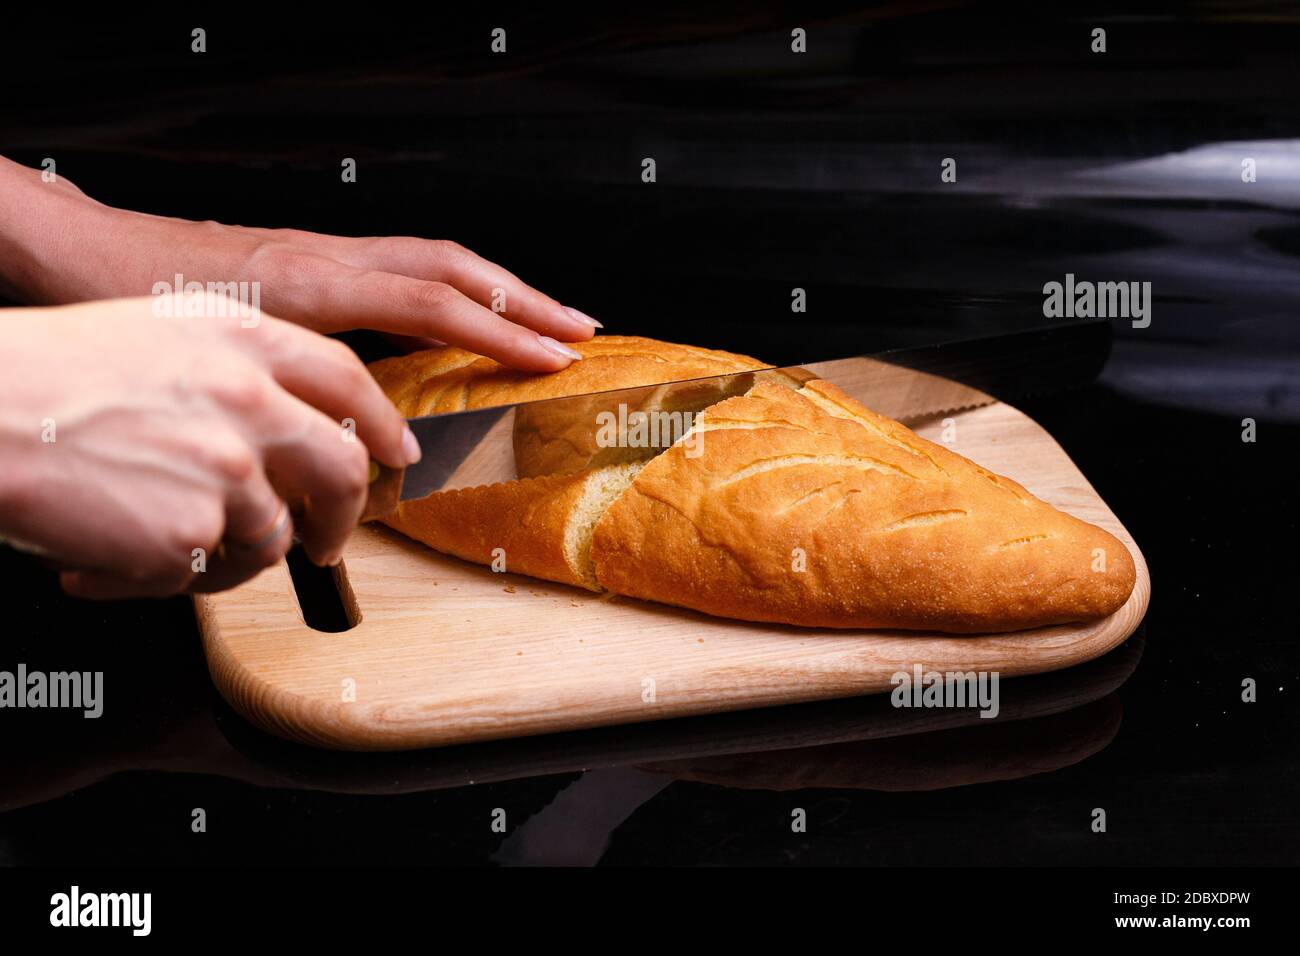
{"label": "short left bread piece before the knife, crust and pale cut edge", "polygon": [[404,501],[385,524],[434,550],[500,571],[601,591],[592,533],[642,463],[437,492]]}

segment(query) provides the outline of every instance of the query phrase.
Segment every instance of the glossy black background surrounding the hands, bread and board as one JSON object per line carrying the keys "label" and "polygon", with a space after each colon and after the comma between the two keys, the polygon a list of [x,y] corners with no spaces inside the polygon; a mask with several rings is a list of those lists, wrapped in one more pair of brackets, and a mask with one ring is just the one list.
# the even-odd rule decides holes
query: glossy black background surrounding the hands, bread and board
{"label": "glossy black background surrounding the hands, bread and board", "polygon": [[[455,238],[608,332],[775,363],[1031,328],[1045,321],[1043,284],[1066,272],[1150,281],[1152,326],[1117,321],[1097,381],[1015,397],[1143,548],[1150,611],[1117,652],[1136,667],[1072,721],[1036,723],[1018,744],[976,728],[957,753],[987,748],[992,765],[1019,747],[1026,774],[1053,741],[1061,754],[1089,735],[1109,744],[1046,760],[1050,773],[904,792],[863,788],[862,767],[884,760],[870,748],[776,753],[749,787],[670,775],[608,832],[586,834],[586,856],[584,839],[559,832],[530,858],[1294,864],[1300,14],[1054,9],[20,14],[0,40],[0,152],[53,156],[90,195],[150,212]],[[202,56],[188,51],[194,26],[208,29]],[[493,26],[508,30],[504,57],[489,52]],[[794,26],[809,30],[807,55],[789,52]],[[1095,26],[1105,55],[1089,52]],[[1253,146],[1199,165],[1223,143]],[[1242,183],[1235,157],[1265,148],[1274,178],[1261,161],[1261,181]],[[339,181],[344,156],[356,183]],[[656,157],[654,185],[640,179],[644,156]],[[956,185],[939,178],[946,156]],[[1126,165],[1160,157],[1153,173]],[[807,289],[807,315],[790,315],[793,286]],[[1240,440],[1247,416],[1254,444]],[[750,723],[815,728],[875,706],[317,754],[224,706],[186,601],[72,602],[12,551],[0,575],[0,667],[104,670],[108,695],[100,721],[0,714],[10,864],[500,862],[491,809],[540,818],[578,773],[425,782]],[[1244,678],[1258,702],[1242,702]],[[1004,697],[1036,693],[1036,680]],[[898,786],[954,762],[944,741],[907,756]],[[810,761],[848,773],[770,788]],[[651,775],[608,771],[599,786],[627,800]],[[195,806],[205,835],[190,832]],[[789,831],[794,806],[807,834]],[[1089,830],[1096,806],[1105,835]]]}

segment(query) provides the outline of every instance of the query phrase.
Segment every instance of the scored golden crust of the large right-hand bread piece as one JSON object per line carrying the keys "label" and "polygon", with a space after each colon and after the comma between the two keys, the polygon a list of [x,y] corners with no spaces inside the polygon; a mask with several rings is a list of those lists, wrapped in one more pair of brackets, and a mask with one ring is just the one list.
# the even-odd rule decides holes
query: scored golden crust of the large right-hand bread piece
{"label": "scored golden crust of the large right-hand bread piece", "polygon": [[607,589],[745,620],[952,632],[1100,618],[1132,591],[1115,537],[829,382],[759,384],[702,428],[699,457],[670,449],[597,524]]}

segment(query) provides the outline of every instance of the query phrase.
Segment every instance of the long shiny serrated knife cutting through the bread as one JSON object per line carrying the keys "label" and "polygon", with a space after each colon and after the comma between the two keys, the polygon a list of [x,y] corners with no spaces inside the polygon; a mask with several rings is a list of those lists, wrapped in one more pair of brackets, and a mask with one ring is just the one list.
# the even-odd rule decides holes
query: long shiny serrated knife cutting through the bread
{"label": "long shiny serrated knife cutting through the bread", "polygon": [[[828,362],[634,386],[582,395],[491,406],[410,419],[422,458],[406,470],[372,462],[361,520],[391,512],[399,501],[433,492],[537,477],[667,449],[666,433],[640,451],[602,441],[602,429],[623,429],[640,414],[679,415],[689,421],[711,405],[745,394],[758,381],[797,388],[826,378],[868,408],[918,424],[997,401],[1054,392],[1092,381],[1105,364],[1110,326],[1074,323],[1030,332],[892,349]],[[614,447],[611,447],[611,445]]]}

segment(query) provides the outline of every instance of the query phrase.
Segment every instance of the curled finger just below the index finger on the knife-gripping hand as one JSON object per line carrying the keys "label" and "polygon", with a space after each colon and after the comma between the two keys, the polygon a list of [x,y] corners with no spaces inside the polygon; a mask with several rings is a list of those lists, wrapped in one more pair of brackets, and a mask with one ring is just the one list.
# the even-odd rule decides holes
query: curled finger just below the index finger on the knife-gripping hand
{"label": "curled finger just below the index finger on the knife-gripping hand", "polygon": [[316,564],[338,563],[365,507],[369,451],[355,433],[287,392],[270,397],[260,431],[273,483],[304,502],[296,519],[303,550]]}

